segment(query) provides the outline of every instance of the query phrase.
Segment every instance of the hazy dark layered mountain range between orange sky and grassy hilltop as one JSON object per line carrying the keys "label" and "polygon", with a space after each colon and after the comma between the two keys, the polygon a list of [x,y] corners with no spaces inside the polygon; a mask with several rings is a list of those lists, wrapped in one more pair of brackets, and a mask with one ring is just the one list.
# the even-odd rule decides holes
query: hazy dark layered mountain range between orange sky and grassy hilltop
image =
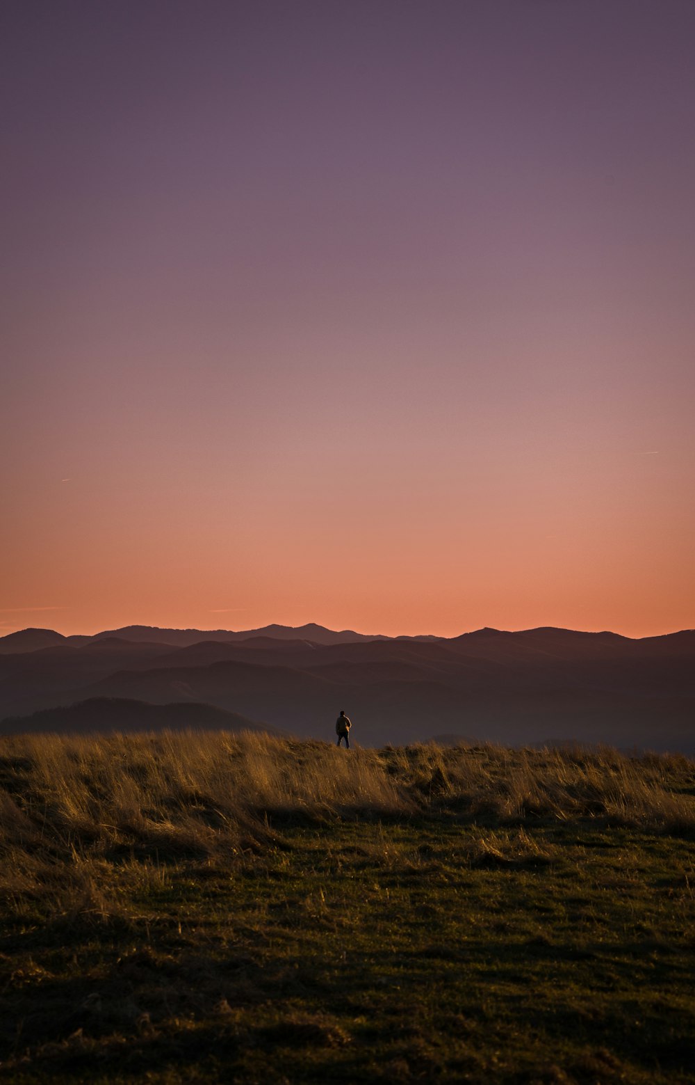
{"label": "hazy dark layered mountain range between orange sky and grassy hilltop", "polygon": [[605,742],[695,753],[695,631],[478,629],[370,637],[319,625],[127,626],[0,638],[0,733],[266,727],[363,745]]}

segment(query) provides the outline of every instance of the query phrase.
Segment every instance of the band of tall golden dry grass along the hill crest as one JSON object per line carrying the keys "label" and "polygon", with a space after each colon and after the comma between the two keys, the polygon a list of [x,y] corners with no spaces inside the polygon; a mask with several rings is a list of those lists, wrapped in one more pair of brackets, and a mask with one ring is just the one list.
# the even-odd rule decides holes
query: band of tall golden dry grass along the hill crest
{"label": "band of tall golden dry grass along the hill crest", "polygon": [[178,858],[278,841],[287,819],[448,816],[485,825],[604,819],[695,830],[695,763],[614,750],[423,744],[337,750],[258,735],[0,740],[0,892],[15,915],[118,912]]}

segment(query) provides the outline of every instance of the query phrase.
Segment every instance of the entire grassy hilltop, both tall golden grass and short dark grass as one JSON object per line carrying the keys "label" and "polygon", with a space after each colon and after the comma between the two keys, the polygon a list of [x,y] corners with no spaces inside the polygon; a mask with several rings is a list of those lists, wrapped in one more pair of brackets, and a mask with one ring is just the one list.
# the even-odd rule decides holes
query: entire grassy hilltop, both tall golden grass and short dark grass
{"label": "entire grassy hilltop, both tall golden grass and short dark grass", "polygon": [[695,763],[0,743],[0,1080],[695,1082]]}

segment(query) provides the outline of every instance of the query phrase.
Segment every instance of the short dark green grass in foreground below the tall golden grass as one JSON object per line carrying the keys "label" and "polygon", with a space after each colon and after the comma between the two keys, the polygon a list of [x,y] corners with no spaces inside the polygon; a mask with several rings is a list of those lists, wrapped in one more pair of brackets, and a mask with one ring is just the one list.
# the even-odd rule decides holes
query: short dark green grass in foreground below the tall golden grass
{"label": "short dark green grass in foreground below the tall golden grass", "polygon": [[695,1082],[695,844],[332,819],[8,905],[0,1080]]}

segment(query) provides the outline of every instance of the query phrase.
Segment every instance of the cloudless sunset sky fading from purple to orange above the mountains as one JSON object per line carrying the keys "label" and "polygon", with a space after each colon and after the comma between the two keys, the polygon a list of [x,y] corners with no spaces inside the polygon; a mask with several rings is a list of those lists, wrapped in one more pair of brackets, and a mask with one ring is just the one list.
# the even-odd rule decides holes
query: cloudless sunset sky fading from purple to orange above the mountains
{"label": "cloudless sunset sky fading from purple to orange above the mountains", "polygon": [[695,626],[693,0],[5,0],[0,634]]}

